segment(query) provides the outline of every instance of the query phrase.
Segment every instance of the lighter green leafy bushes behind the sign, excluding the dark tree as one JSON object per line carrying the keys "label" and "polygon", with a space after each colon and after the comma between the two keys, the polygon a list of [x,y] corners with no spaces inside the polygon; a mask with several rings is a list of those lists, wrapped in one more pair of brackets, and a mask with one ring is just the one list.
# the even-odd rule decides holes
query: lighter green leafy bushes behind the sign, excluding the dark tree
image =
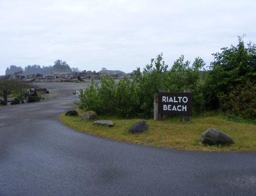
{"label": "lighter green leafy bushes behind the sign, excluding the dark tree", "polygon": [[79,106],[101,114],[152,117],[154,93],[190,89],[195,96],[195,111],[200,112],[203,96],[199,80],[203,66],[201,58],[196,58],[190,66],[190,62],[184,61],[184,56],[181,56],[168,69],[160,54],[142,72],[137,69],[137,75],[132,79],[116,82],[102,77],[100,87],[92,81],[90,87],[81,93]]}

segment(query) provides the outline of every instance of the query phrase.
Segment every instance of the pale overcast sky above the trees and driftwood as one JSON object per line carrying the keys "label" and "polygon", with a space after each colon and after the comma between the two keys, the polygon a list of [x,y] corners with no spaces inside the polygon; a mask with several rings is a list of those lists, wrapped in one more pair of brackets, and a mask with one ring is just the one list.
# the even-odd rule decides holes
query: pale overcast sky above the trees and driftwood
{"label": "pale overcast sky above the trees and driftwood", "polygon": [[209,64],[238,35],[256,42],[255,10],[255,0],[0,0],[0,75],[58,59],[129,72],[160,52],[167,64],[181,54]]}

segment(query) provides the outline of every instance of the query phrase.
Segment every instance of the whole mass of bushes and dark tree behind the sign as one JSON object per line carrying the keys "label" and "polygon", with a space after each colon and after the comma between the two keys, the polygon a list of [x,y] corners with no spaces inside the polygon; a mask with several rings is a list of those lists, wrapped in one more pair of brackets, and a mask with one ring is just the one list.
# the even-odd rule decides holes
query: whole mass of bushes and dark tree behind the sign
{"label": "whole mass of bushes and dark tree behind the sign", "polygon": [[219,111],[232,117],[256,118],[256,46],[245,45],[240,37],[237,46],[213,54],[209,70],[196,58],[191,64],[184,56],[168,66],[162,54],[152,59],[143,71],[137,69],[132,79],[92,81],[80,95],[78,106],[102,115],[121,117],[153,116],[154,93],[182,92],[193,95],[193,114]]}

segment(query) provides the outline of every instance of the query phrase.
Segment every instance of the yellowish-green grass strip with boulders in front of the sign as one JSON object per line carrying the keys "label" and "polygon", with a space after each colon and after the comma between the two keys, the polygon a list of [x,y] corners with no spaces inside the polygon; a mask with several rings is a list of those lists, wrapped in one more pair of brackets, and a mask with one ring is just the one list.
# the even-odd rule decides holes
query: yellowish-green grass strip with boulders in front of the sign
{"label": "yellowish-green grass strip with boulders in front of the sign", "polygon": [[[79,115],[83,111],[78,110]],[[93,121],[81,121],[80,117],[68,117],[64,113],[60,120],[75,130],[111,140],[130,142],[143,146],[170,147],[188,151],[256,151],[256,125],[236,123],[219,116],[194,117],[190,123],[182,124],[179,118],[168,121],[146,120],[148,130],[142,134],[129,134],[129,128],[139,119],[121,119],[100,116],[98,119],[114,121],[114,127],[96,127]],[[203,146],[200,134],[207,128],[217,128],[234,138],[231,146]]]}

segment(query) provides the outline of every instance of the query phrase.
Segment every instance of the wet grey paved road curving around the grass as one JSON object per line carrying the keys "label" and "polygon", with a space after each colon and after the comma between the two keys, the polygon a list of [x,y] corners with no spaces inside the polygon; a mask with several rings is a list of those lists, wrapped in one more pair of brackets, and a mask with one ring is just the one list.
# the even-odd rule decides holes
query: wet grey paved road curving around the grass
{"label": "wet grey paved road curving around the grass", "polygon": [[256,195],[256,153],[88,136],[58,121],[75,99],[0,108],[0,195]]}

